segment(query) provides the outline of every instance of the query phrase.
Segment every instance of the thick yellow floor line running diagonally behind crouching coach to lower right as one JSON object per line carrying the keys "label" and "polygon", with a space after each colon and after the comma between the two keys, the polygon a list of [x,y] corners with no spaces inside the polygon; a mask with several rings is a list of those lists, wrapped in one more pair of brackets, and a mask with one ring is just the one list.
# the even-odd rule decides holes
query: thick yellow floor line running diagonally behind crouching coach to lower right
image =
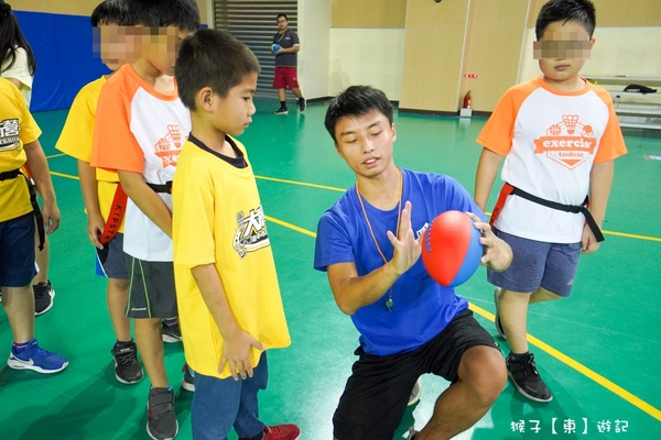
{"label": "thick yellow floor line running diagonally behind crouching coach to lower right", "polygon": [[[268,217],[268,216],[267,216],[267,219],[269,221],[274,222],[274,223],[281,224],[281,226],[285,227],[285,228],[293,229],[296,232],[301,232],[301,233],[304,233],[305,235],[310,235],[312,238],[316,238],[316,233],[314,233],[312,231],[308,231],[306,229],[296,227],[294,224],[288,223],[286,221],[282,221],[282,220],[275,219],[273,217]],[[486,319],[488,319],[490,321],[494,321],[495,316],[492,314],[490,314],[489,311],[483,309],[479,306],[476,306],[473,302],[469,302],[469,306],[470,306],[470,309],[474,310],[476,314],[480,315],[481,317],[484,317],[484,318],[486,318]],[[621,386],[614,384],[613,382],[608,381],[606,377],[604,377],[600,374],[594,372],[593,370],[588,369],[587,366],[583,365],[582,363],[573,360],[572,358],[570,358],[566,354],[562,353],[561,351],[555,350],[553,346],[551,346],[548,343],[545,343],[545,342],[537,339],[532,334],[528,334],[528,342],[530,342],[534,346],[539,348],[540,350],[546,352],[551,356],[557,359],[560,362],[563,362],[564,364],[566,364],[566,365],[571,366],[572,369],[576,370],[578,373],[583,374],[587,378],[589,378],[589,380],[596,382],[597,384],[602,385],[604,388],[606,388],[606,389],[615,393],[616,395],[618,395],[622,399],[627,400],[628,403],[630,403],[635,407],[639,408],[640,410],[649,414],[650,416],[652,416],[653,418],[655,418],[658,420],[661,420],[661,410],[654,408],[653,406],[651,406],[647,402],[642,400],[641,398],[636,397],[633,394],[629,393],[628,391],[626,391]]]}

